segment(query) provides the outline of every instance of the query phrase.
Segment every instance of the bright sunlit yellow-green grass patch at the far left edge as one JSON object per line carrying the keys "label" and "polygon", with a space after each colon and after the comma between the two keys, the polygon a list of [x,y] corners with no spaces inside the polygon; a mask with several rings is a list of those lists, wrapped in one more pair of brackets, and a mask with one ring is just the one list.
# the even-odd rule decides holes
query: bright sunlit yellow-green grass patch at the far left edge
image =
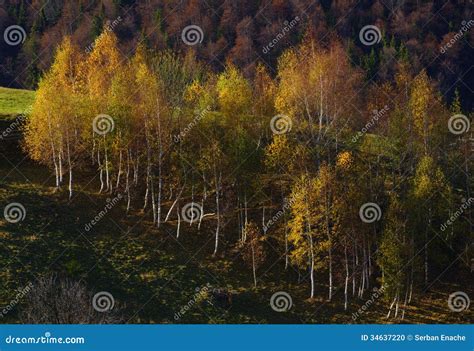
{"label": "bright sunlit yellow-green grass patch at the far left edge", "polygon": [[35,92],[0,87],[0,118],[12,118],[29,109]]}

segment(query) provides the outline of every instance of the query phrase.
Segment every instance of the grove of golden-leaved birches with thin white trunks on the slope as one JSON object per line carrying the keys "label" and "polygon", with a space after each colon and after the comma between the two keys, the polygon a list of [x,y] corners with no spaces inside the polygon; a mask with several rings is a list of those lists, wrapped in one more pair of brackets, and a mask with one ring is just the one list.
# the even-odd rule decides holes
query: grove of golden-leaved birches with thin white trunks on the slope
{"label": "grove of golden-leaved birches with thin white trunks on the slope", "polygon": [[252,76],[191,49],[119,46],[112,31],[87,54],[66,37],[41,78],[23,146],[59,194],[79,179],[122,194],[124,218],[156,235],[196,235],[210,260],[239,252],[255,288],[281,270],[345,311],[383,288],[388,318],[469,246],[469,210],[440,232],[470,199],[472,167],[425,71],[400,58],[393,82],[371,85],[342,43],[310,35]]}

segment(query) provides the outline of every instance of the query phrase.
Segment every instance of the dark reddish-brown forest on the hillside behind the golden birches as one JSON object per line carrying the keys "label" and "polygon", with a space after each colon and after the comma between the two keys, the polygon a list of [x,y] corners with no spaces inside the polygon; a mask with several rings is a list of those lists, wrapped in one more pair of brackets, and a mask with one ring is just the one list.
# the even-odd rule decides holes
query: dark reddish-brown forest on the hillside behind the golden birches
{"label": "dark reddish-brown forest on the hillside behind the golden birches", "polygon": [[[129,55],[138,42],[187,50],[182,29],[198,25],[203,40],[194,50],[215,71],[227,62],[246,77],[255,75],[257,62],[275,69],[283,51],[311,31],[321,44],[340,38],[351,63],[371,81],[393,78],[397,58],[409,53],[414,70],[426,68],[450,100],[458,89],[471,109],[466,82],[474,79],[473,7],[469,0],[3,0],[0,30],[19,25],[27,35],[21,46],[0,42],[0,84],[35,88],[64,35],[88,50],[104,28],[113,27],[121,52]],[[380,29],[376,45],[358,40],[365,25]]]}

